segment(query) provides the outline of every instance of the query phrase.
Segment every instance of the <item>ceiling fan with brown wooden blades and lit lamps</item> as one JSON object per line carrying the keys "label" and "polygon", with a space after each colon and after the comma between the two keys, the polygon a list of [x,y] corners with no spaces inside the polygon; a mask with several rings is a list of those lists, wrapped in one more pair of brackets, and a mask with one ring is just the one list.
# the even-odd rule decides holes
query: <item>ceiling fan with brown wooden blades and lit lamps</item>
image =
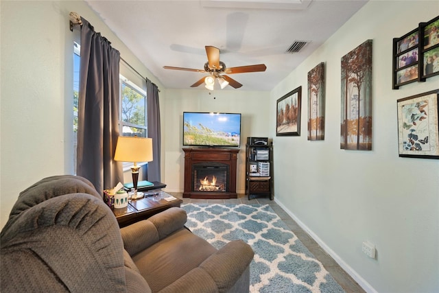
{"label": "ceiling fan with brown wooden blades and lit lamps", "polygon": [[213,85],[215,84],[215,78],[218,80],[221,89],[224,89],[224,87],[226,87],[228,84],[235,89],[238,89],[242,86],[242,84],[224,74],[258,72],[265,71],[265,69],[267,69],[264,64],[228,68],[226,67],[224,62],[219,61],[219,49],[217,47],[205,46],[205,48],[207,54],[207,62],[204,64],[204,69],[191,69],[171,66],[164,66],[163,68],[209,73],[209,76],[201,78],[200,80],[198,80],[198,82],[192,84],[191,87],[197,87],[204,82],[206,84],[206,89],[209,89],[211,91],[213,90]]}

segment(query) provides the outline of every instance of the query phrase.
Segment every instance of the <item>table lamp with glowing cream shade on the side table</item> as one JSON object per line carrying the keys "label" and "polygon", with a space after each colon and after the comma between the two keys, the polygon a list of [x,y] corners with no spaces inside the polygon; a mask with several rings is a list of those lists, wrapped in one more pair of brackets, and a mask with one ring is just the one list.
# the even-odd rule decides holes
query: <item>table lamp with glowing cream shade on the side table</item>
{"label": "table lamp with glowing cream shade on the side table", "polygon": [[139,162],[152,161],[152,139],[145,137],[119,137],[117,139],[115,161],[132,162],[133,197],[137,197],[137,182],[139,180]]}

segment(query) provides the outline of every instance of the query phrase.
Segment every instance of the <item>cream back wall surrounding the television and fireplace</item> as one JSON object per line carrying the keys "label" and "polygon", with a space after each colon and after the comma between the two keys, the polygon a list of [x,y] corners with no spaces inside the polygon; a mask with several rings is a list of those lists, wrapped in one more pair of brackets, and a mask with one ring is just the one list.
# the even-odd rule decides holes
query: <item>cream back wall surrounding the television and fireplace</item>
{"label": "cream back wall surrounding the television and fireplace", "polygon": [[[241,113],[241,151],[237,161],[237,193],[245,193],[245,147],[247,137],[268,137],[270,93],[261,91],[167,89],[161,104],[162,141],[167,191],[184,189],[185,154],[182,151],[183,112]],[[164,116],[164,117],[163,117]]]}

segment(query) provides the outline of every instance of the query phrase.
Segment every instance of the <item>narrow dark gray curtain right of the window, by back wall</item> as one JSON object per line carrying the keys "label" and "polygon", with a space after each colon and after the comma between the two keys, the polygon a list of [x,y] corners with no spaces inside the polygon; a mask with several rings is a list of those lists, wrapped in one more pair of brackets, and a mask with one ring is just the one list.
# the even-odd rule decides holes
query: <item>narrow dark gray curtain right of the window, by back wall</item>
{"label": "narrow dark gray curtain right of the window, by back wall", "polygon": [[148,163],[147,180],[161,182],[161,130],[158,88],[146,80],[148,137],[152,139],[152,162]]}

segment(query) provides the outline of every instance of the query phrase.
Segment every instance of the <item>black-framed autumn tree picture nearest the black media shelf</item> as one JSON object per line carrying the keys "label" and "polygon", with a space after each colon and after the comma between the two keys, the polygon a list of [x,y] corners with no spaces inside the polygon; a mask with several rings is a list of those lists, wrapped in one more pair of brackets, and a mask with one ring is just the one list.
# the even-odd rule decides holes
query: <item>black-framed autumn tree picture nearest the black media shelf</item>
{"label": "black-framed autumn tree picture nearest the black media shelf", "polygon": [[300,136],[301,99],[302,86],[299,86],[277,100],[276,137],[282,135]]}

